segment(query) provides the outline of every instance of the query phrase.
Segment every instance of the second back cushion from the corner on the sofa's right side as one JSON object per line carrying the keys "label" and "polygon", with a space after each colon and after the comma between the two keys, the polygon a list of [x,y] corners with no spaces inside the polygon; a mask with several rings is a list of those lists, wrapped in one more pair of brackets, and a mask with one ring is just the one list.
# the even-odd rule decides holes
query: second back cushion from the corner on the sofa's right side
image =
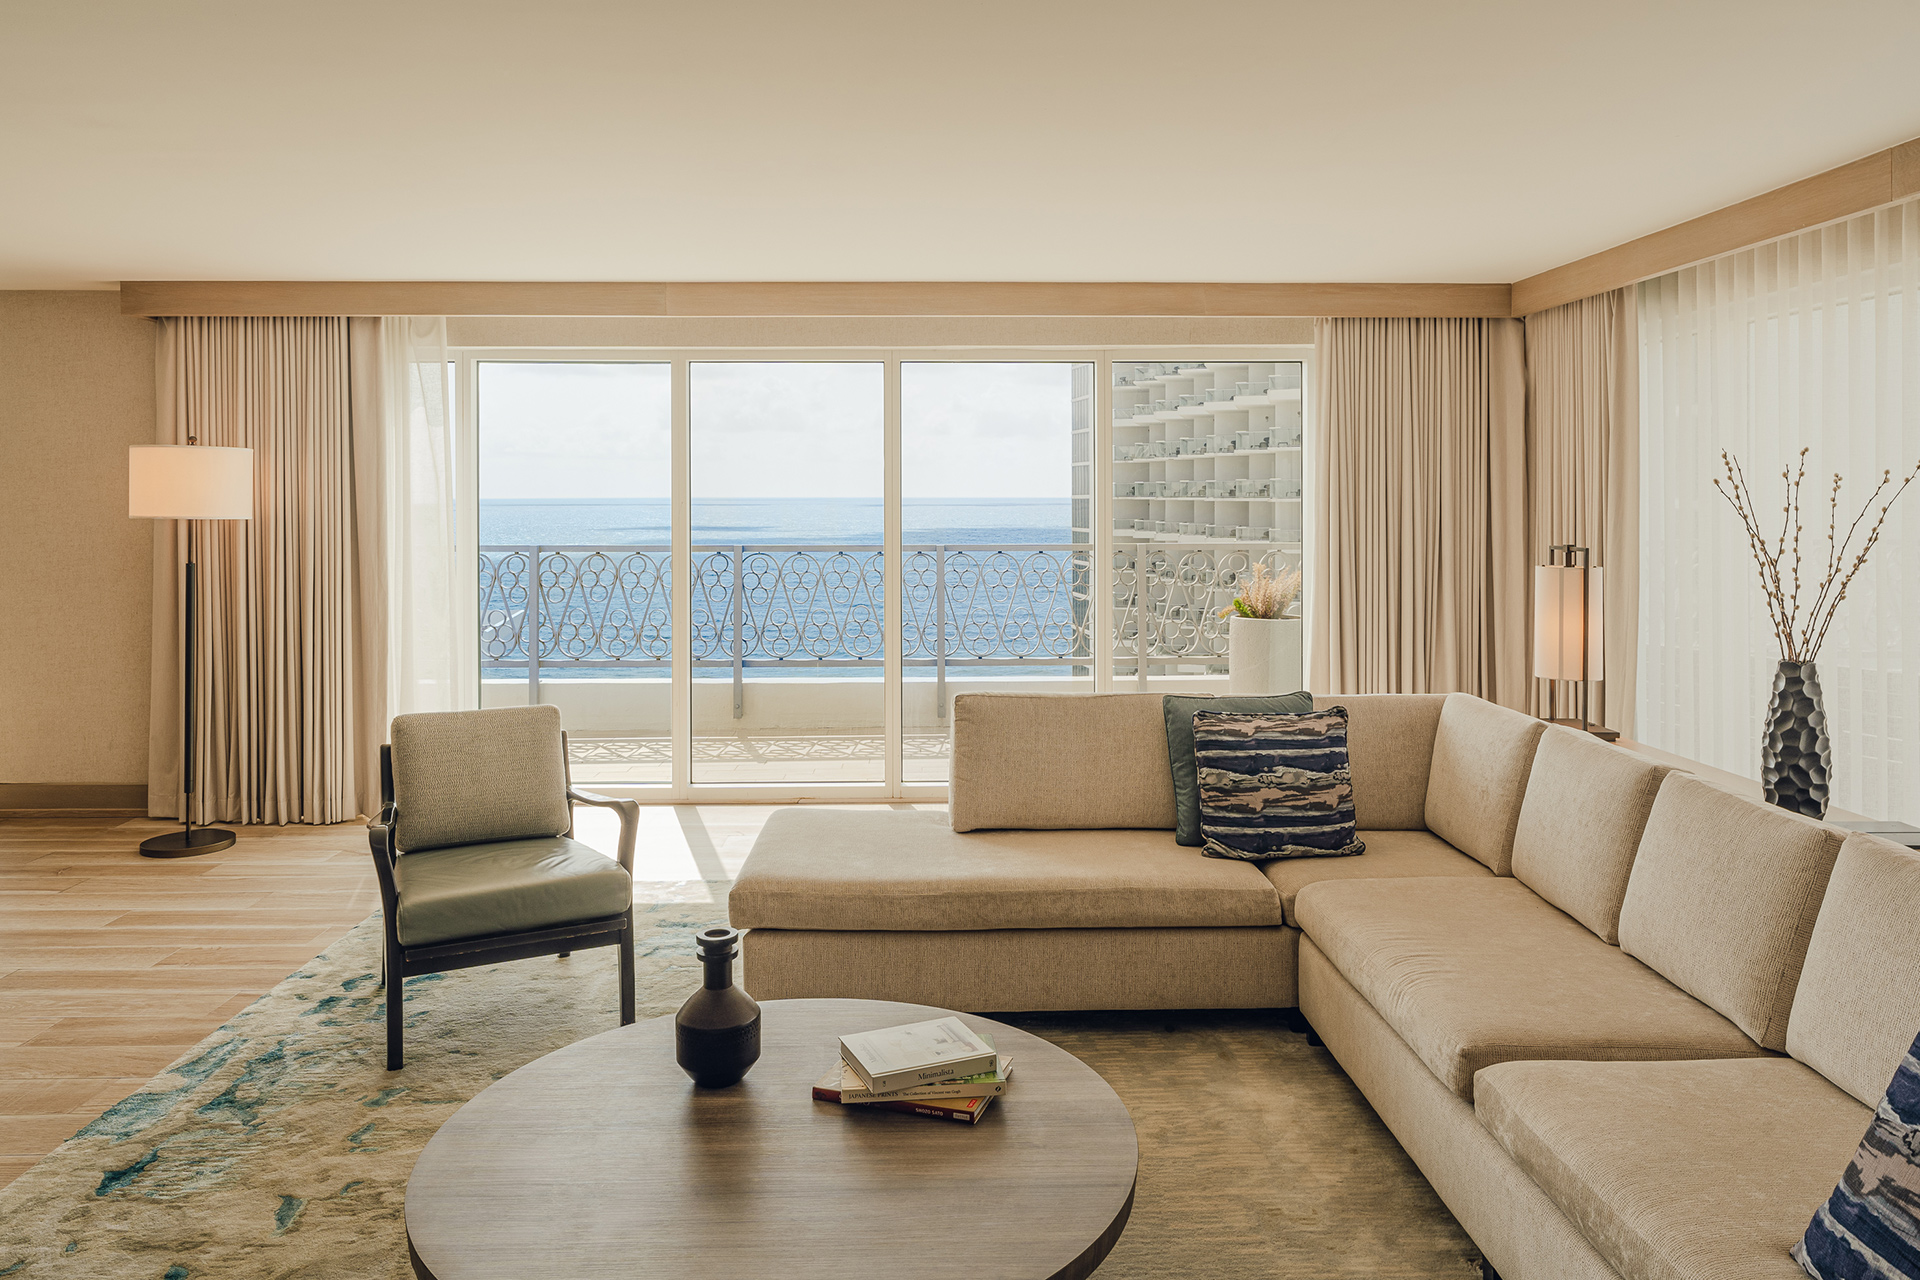
{"label": "second back cushion from the corner on the sofa's right side", "polygon": [[1619,942],[1626,875],[1667,773],[1592,733],[1549,725],[1513,829],[1513,877]]}

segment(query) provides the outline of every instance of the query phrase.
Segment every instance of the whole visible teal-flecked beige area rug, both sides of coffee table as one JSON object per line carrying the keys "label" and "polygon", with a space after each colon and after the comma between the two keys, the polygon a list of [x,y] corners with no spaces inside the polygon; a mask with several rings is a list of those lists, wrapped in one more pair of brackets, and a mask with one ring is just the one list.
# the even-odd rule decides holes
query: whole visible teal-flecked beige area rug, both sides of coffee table
{"label": "whole visible teal-flecked beige area rug, both sides of coffee table", "polygon": [[[724,921],[726,889],[636,904],[641,1017],[699,984],[691,935]],[[378,954],[372,917],[0,1190],[0,1276],[409,1280],[420,1148],[499,1077],[618,1025],[616,958],[409,979],[407,1069],[388,1073]],[[1140,1184],[1100,1280],[1478,1278],[1367,1100],[1273,1011],[1002,1017],[1133,1113]]]}

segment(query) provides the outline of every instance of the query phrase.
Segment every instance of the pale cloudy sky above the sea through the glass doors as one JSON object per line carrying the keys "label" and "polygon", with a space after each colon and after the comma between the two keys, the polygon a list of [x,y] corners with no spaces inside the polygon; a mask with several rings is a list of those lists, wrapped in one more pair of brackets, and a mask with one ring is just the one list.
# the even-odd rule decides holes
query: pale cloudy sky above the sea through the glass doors
{"label": "pale cloudy sky above the sea through the glass doors", "polygon": [[[906,363],[900,491],[1071,489],[1071,365]],[[693,497],[879,497],[883,367],[701,361],[689,372]],[[480,367],[484,499],[666,499],[664,363]]]}

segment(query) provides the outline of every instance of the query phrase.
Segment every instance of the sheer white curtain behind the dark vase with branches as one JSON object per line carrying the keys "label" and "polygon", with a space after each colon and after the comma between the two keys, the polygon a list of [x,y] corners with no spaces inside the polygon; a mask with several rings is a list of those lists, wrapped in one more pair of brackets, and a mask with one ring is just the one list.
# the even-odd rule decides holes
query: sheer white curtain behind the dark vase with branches
{"label": "sheer white curtain behind the dark vase with branches", "polygon": [[[1713,491],[1740,455],[1763,510],[1807,455],[1803,551],[1824,497],[1843,518],[1920,457],[1920,201],[1640,286],[1642,593],[1638,737],[1759,777],[1778,647],[1740,520]],[[1878,514],[1878,509],[1876,509]],[[1868,524],[1872,516],[1868,516]],[[1843,532],[1843,530],[1841,530]],[[1820,651],[1834,804],[1920,821],[1920,493],[1887,520]]]}

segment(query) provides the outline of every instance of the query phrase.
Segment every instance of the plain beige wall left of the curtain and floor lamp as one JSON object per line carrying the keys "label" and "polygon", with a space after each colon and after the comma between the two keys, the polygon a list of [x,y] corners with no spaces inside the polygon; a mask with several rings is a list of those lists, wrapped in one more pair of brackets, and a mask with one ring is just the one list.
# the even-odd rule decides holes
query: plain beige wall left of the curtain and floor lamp
{"label": "plain beige wall left of the curtain and floor lamp", "polygon": [[127,518],[127,445],[152,441],[152,320],[111,292],[0,292],[0,793],[15,802],[21,783],[146,787],[154,528]]}

